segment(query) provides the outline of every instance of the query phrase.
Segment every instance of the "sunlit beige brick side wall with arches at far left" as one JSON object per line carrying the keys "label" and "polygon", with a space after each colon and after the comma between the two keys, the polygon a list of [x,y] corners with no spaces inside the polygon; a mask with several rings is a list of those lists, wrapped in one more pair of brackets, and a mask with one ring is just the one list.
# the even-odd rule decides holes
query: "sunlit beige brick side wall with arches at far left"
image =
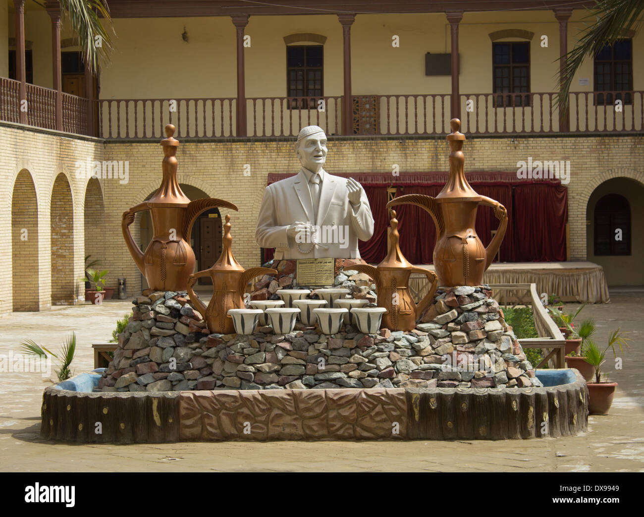
{"label": "sunlit beige brick side wall with arches at far left", "polygon": [[[0,246],[0,263],[3,264],[0,268],[0,315],[12,310],[43,310],[52,306],[52,197],[56,206],[54,182],[61,173],[64,180],[61,177],[60,186],[63,191],[67,189],[67,199],[71,197],[74,230],[73,236],[70,235],[73,244],[69,248],[72,266],[64,273],[68,278],[64,286],[68,297],[71,292],[73,298],[77,298],[78,293],[82,299],[82,284],[76,279],[83,274],[83,204],[88,180],[76,178],[75,162],[87,156],[102,160],[103,153],[104,146],[98,139],[70,138],[63,133],[0,124],[0,155],[3,157],[0,161],[0,235],[11,235],[5,246]],[[19,188],[14,192],[16,184]],[[32,185],[31,197],[23,191],[26,184]],[[12,210],[14,197],[16,205]],[[12,213],[17,216],[13,224]],[[55,210],[54,214],[57,213]],[[28,246],[22,249],[15,242],[19,235],[15,230],[21,226],[21,219],[34,229],[33,233],[28,233]],[[69,213],[66,221],[69,224]],[[9,242],[12,246],[8,246]],[[65,252],[67,250],[65,248]],[[63,285],[55,281],[54,284],[54,287]],[[56,292],[53,295],[55,298]],[[23,306],[21,297],[30,300],[28,306]]]}

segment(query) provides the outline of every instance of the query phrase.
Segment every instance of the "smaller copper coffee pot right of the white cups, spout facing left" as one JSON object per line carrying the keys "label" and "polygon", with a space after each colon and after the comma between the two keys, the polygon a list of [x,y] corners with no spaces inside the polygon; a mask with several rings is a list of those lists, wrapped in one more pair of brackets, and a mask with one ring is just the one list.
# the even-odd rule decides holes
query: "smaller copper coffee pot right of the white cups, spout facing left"
{"label": "smaller copper coffee pot right of the white cups, spout facing left", "polygon": [[[438,286],[436,274],[430,269],[413,266],[403,257],[398,244],[398,220],[392,210],[392,231],[390,233],[389,253],[377,267],[368,264],[350,266],[355,271],[365,273],[374,279],[378,306],[387,309],[383,315],[383,327],[390,330],[412,331],[416,320],[430,304]],[[409,289],[409,276],[422,273],[430,281],[431,288],[419,304],[413,301]]]}

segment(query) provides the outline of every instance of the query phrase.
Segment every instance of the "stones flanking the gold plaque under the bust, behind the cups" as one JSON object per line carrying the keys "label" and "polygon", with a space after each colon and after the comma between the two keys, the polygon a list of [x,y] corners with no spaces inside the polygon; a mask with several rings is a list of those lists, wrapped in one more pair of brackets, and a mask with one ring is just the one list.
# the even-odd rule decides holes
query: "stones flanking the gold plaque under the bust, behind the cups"
{"label": "stones flanking the gold plaque under the bust, behind the cups", "polygon": [[[352,298],[365,298],[370,303],[375,302],[375,285],[364,273],[352,270],[351,266],[354,264],[366,264],[366,262],[363,260],[336,259],[334,284],[327,287],[346,288],[351,291]],[[298,281],[296,280],[295,260],[271,261],[264,264],[264,266],[276,269],[278,275],[264,275],[260,278],[251,293],[251,300],[279,300],[279,295],[276,294],[278,289],[301,287],[298,286]]]}

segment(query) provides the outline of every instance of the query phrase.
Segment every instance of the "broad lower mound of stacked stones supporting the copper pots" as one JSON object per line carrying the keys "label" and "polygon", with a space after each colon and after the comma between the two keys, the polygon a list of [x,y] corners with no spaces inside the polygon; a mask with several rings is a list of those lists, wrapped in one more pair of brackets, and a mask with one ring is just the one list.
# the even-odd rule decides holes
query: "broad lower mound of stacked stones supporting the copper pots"
{"label": "broad lower mound of stacked stones supporting the copper pots", "polygon": [[412,332],[378,335],[209,334],[185,293],[133,303],[102,391],[541,385],[488,286],[439,289]]}

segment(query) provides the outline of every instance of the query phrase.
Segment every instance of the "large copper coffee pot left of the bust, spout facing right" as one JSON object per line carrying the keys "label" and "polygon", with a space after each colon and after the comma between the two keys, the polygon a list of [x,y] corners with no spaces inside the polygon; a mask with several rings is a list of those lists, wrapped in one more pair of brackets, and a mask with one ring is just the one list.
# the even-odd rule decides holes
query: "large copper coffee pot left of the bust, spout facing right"
{"label": "large copper coffee pot left of the bust, spout facing right", "polygon": [[[176,179],[176,149],[179,142],[173,138],[175,126],[167,124],[167,138],[161,141],[164,151],[163,179],[155,195],[123,213],[121,229],[129,253],[139,271],[146,277],[152,291],[185,291],[188,277],[194,271],[194,251],[188,240],[196,218],[209,208],[237,206],[222,199],[205,197],[189,200]],[[138,248],[129,231],[138,211],[149,210],[154,237],[146,252]]]}

